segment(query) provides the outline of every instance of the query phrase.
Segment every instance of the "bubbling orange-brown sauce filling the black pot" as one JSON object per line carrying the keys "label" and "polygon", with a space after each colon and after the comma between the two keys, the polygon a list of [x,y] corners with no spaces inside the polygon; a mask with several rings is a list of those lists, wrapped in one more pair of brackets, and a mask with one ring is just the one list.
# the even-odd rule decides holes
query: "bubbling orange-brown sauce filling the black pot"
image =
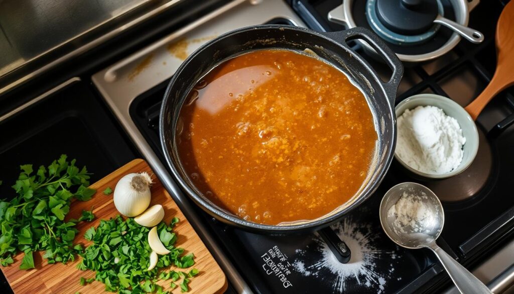
{"label": "bubbling orange-brown sauce filling the black pot", "polygon": [[190,93],[177,129],[196,187],[266,224],[316,219],[352,198],[377,140],[360,90],[337,68],[289,50],[217,66]]}

